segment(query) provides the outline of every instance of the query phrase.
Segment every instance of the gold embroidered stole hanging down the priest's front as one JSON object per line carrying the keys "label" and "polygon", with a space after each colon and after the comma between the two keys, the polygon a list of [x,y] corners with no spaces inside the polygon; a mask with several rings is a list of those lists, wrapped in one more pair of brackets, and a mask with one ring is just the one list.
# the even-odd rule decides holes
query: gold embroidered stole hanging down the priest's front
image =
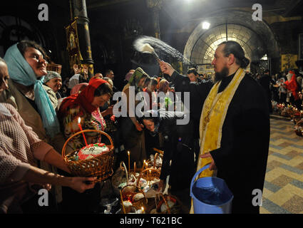
{"label": "gold embroidered stole hanging down the priest's front", "polygon": [[[239,68],[235,73],[234,78],[232,78],[232,81],[228,84],[225,90],[222,91],[222,93],[217,93],[221,82],[217,82],[212,86],[212,89],[207,95],[203,105],[200,118],[200,155],[221,147],[222,126],[227,110],[233,96],[235,95],[235,91],[244,76],[245,71],[242,68]],[[201,167],[204,167],[211,161],[210,157],[199,157],[197,170],[200,170]],[[211,177],[212,174],[213,171],[207,169],[203,171],[199,177]]]}

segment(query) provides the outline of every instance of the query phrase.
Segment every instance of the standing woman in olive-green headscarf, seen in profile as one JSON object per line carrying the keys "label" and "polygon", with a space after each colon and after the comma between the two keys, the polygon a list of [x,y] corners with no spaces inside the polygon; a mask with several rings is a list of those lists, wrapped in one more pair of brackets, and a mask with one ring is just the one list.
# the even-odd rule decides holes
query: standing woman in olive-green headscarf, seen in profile
{"label": "standing woman in olive-green headscarf, seen in profile", "polygon": [[125,95],[122,102],[127,107],[127,117],[120,119],[121,138],[125,149],[130,150],[130,159],[137,164],[140,164],[146,158],[146,155],[142,134],[143,125],[138,123],[135,113],[136,107],[143,97],[141,100],[137,100],[135,96],[142,92],[146,78],[149,78],[148,74],[142,68],[136,68],[122,90]]}

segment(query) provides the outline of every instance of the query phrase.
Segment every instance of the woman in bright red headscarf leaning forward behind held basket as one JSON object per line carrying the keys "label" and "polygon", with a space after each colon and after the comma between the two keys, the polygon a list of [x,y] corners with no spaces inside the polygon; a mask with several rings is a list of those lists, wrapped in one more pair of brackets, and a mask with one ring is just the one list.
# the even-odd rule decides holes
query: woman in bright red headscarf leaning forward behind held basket
{"label": "woman in bright red headscarf leaning forward behind held basket", "polygon": [[[70,95],[65,98],[58,110],[65,138],[78,132],[78,120],[83,129],[104,130],[102,115],[99,107],[103,106],[113,95],[111,86],[103,79],[96,78],[88,83],[81,93]],[[90,134],[87,137],[88,143],[98,140],[98,134]],[[70,151],[79,149],[85,145],[81,135],[68,142]],[[67,149],[67,150],[68,150]]]}

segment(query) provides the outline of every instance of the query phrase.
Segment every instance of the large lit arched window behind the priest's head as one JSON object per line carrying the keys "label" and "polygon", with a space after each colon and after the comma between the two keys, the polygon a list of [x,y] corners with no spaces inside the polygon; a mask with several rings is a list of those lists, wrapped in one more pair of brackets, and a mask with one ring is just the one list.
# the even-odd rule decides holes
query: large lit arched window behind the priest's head
{"label": "large lit arched window behind the priest's head", "polygon": [[[210,23],[209,29],[202,29],[203,21]],[[265,54],[279,58],[279,47],[269,26],[264,21],[252,21],[252,14],[247,11],[218,11],[205,17],[188,38],[184,57],[196,64],[210,63],[215,48],[226,37],[240,43],[251,61],[258,61]]]}

